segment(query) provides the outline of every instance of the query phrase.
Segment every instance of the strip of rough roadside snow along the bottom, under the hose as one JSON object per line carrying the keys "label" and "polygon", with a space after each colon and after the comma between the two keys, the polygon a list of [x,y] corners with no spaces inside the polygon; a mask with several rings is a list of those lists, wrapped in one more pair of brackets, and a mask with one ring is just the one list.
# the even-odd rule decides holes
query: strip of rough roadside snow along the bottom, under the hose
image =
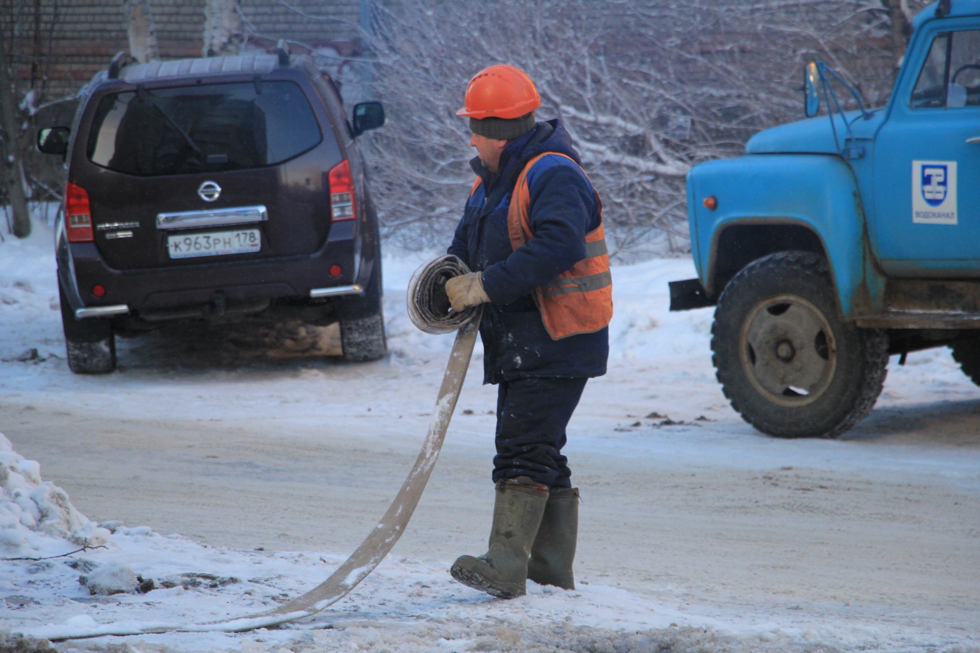
{"label": "strip of rough roadside snow along the bottom, under the hose", "polygon": [[[111,549],[59,560],[0,566],[0,612],[9,628],[35,638],[193,625],[275,608],[329,576],[343,555],[235,550],[145,527],[119,528]],[[127,565],[156,588],[91,595],[78,574]],[[330,609],[277,629],[164,632],[75,639],[63,653],[980,653],[968,634],[923,622],[899,628],[816,612],[731,605],[720,618],[684,604],[684,588],[641,596],[582,576],[574,590],[528,583],[527,595],[494,599],[456,583],[447,563],[389,556]],[[16,593],[15,593],[16,592]],[[6,596],[4,596],[6,594]],[[787,603],[791,605],[792,603]],[[3,603],[0,602],[0,606]],[[776,609],[778,610],[778,609]],[[778,610],[782,612],[781,610]],[[118,647],[118,648],[117,648]],[[0,651],[3,651],[0,639]]]}

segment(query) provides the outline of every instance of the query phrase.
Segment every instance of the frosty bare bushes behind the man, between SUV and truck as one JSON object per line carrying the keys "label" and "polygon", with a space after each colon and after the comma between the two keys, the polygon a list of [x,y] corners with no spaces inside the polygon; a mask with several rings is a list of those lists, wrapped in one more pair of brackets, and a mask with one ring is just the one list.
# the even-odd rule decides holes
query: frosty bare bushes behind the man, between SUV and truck
{"label": "frosty bare bushes behind the man, between SUV and truck", "polygon": [[[905,48],[896,33],[907,38],[894,23],[923,4],[375,0],[362,36],[370,88],[390,119],[364,138],[384,229],[412,247],[445,245],[472,182],[474,153],[455,111],[473,73],[507,63],[527,70],[539,119],[560,118],[581,153],[614,256],[687,251],[690,167],[802,117],[796,88],[810,60],[839,70],[866,104],[883,104]],[[364,79],[339,81],[362,88]]]}

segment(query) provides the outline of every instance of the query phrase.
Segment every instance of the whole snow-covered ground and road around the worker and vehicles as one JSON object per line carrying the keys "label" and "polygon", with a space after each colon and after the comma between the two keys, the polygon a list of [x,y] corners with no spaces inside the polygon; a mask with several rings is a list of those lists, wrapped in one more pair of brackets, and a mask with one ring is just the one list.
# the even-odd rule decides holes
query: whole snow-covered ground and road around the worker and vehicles
{"label": "whole snow-covered ground and road around the worker and vehicles", "polygon": [[[373,473],[366,465],[386,463],[377,456],[366,458],[367,463],[351,462],[354,471],[343,476],[339,485],[357,491],[319,508],[304,507],[308,504],[300,490],[294,490],[295,496],[280,499],[259,494],[263,501],[281,500],[282,511],[288,515],[283,523],[292,527],[267,526],[259,519],[241,526],[235,523],[239,517],[231,506],[227,514],[207,508],[198,519],[212,522],[214,527],[203,524],[202,532],[207,530],[214,540],[235,542],[215,545],[201,537],[162,531],[153,522],[172,519],[168,506],[173,500],[166,494],[157,494],[159,504],[146,509],[148,517],[143,525],[123,524],[118,515],[105,508],[122,505],[125,497],[108,496],[96,502],[73,490],[75,504],[91,501],[91,505],[100,506],[103,514],[99,519],[103,521],[96,525],[74,509],[67,492],[58,488],[68,487],[62,479],[51,477],[50,471],[42,475],[52,466],[67,474],[71,466],[62,460],[64,455],[50,448],[35,450],[34,443],[19,442],[17,433],[35,413],[49,420],[60,419],[60,411],[102,415],[103,421],[95,426],[65,418],[58,422],[68,425],[63,427],[65,433],[52,433],[44,439],[58,442],[64,436],[68,446],[75,430],[95,434],[72,449],[80,452],[77,455],[90,456],[85,449],[99,442],[96,435],[100,431],[126,428],[127,420],[146,420],[140,424],[149,425],[147,429],[153,422],[184,425],[188,430],[201,424],[217,424],[214,428],[225,425],[229,439],[236,437],[238,427],[251,425],[270,434],[295,431],[311,443],[332,445],[331,436],[319,431],[328,421],[341,434],[338,446],[343,441],[353,447],[352,451],[383,450],[414,459],[453,336],[418,332],[406,314],[405,289],[417,265],[436,253],[390,253],[384,260],[391,354],[383,361],[349,365],[329,357],[287,357],[297,350],[290,346],[256,352],[255,339],[228,338],[201,330],[194,332],[190,342],[166,333],[120,339],[120,370],[113,375],[84,377],[73,376],[67,368],[51,235],[43,227],[36,229],[37,233],[25,241],[8,238],[0,243],[0,327],[5,333],[0,341],[0,430],[18,443],[13,447],[0,439],[0,485],[4,488],[0,557],[5,559],[0,561],[0,630],[70,637],[114,625],[148,627],[247,617],[325,580],[353,550],[349,543],[356,545],[376,523],[401,483],[398,475],[404,477],[407,467],[395,466],[390,475],[378,477],[395,479],[390,488],[368,491],[366,486],[380,482],[359,485],[358,475]],[[708,345],[711,309],[683,313],[666,310],[666,281],[691,276],[689,258],[613,268],[611,371],[607,377],[590,382],[569,427],[567,450],[573,474],[578,475],[573,478],[586,488],[582,505],[585,539],[580,539],[577,589],[565,591],[528,583],[527,596],[502,601],[455,583],[447,573],[453,555],[479,553],[464,546],[484,538],[489,523],[478,521],[473,527],[478,534],[467,538],[466,545],[456,541],[463,538],[460,528],[445,524],[445,531],[429,536],[423,546],[425,542],[418,539],[422,525],[440,519],[439,514],[426,512],[423,496],[421,514],[392,554],[344,601],[316,617],[274,630],[102,636],[68,639],[55,645],[63,652],[107,653],[980,650],[980,610],[976,607],[980,599],[980,583],[976,583],[980,561],[980,512],[976,507],[980,447],[975,438],[961,435],[976,433],[980,390],[962,375],[948,350],[915,352],[909,354],[904,367],[898,367],[893,359],[879,409],[847,437],[832,442],[761,437],[731,410],[714,381]],[[333,338],[328,333],[312,336],[322,342],[332,342]],[[494,407],[494,389],[480,386],[480,358],[477,345],[450,428],[448,450],[437,465],[436,477],[440,466],[445,471],[458,459],[478,458],[484,467],[488,464],[487,439],[492,435],[494,419],[488,413]],[[173,406],[180,406],[178,416],[174,416]],[[123,427],[110,426],[108,420]],[[926,425],[921,429],[935,428],[934,441],[916,435],[916,421]],[[174,427],[172,439],[183,442],[178,431]],[[270,447],[275,442],[270,441]],[[30,457],[38,462],[28,461],[13,450],[21,443],[32,447]],[[220,492],[225,484],[245,500],[246,496],[256,496],[249,493],[256,490],[250,485],[260,491],[266,487],[264,481],[249,480],[252,468],[223,472],[218,461],[205,461],[216,467],[181,469],[170,462],[172,454],[166,445],[159,444],[154,451],[161,453],[151,455],[160,456],[156,465],[162,478],[174,479],[162,486],[174,495]],[[292,488],[319,483],[303,481],[308,478],[309,467],[300,453],[291,453],[292,458],[275,468],[273,458],[277,454],[272,448],[270,451],[265,459],[255,459],[262,465],[248,463],[259,470],[257,474],[280,469],[277,473],[301,479],[302,483]],[[613,467],[622,468],[616,472],[602,467],[607,464],[604,460],[618,460]],[[95,469],[87,476],[84,470],[73,471],[75,486],[83,477],[104,476],[108,480],[129,474],[120,471],[120,461],[109,456],[101,462],[84,457],[79,464],[94,465]],[[633,470],[641,467],[650,470],[650,479],[642,488],[632,480]],[[140,473],[144,476],[152,471],[143,469]],[[185,487],[187,482],[178,480],[199,472],[205,485]],[[478,482],[484,485],[485,475],[484,468],[470,473],[480,477]],[[701,485],[683,485],[693,483],[685,478],[698,475],[704,479]],[[739,493],[742,490],[736,486],[745,479],[758,479],[755,496]],[[151,481],[144,478],[139,485]],[[625,490],[614,487],[615,482],[638,490],[623,493]],[[469,491],[469,486],[440,483],[434,477],[430,486],[435,487],[430,488],[428,497],[438,501],[438,506],[449,506],[453,495]],[[881,484],[885,490],[868,494],[874,484]],[[339,491],[337,485],[330,487]],[[682,489],[683,500],[671,502],[668,496],[675,487]],[[202,490],[205,488],[210,490]],[[143,490],[132,486],[127,491]],[[636,499],[635,492],[641,490],[652,493]],[[364,508],[362,503],[355,503],[361,498],[355,495],[358,492],[376,492],[377,500]],[[746,532],[739,531],[732,520],[768,509],[770,503],[783,505],[779,502],[784,499],[772,498],[775,494],[771,492],[792,492],[785,501],[793,517],[775,521],[775,517],[770,520],[765,517],[767,513],[760,513],[760,523],[771,523],[774,533],[810,533],[806,520],[822,519],[815,528],[823,530],[805,537],[820,547],[826,545],[824,539],[836,541],[834,531],[851,533],[847,529],[853,523],[867,520],[869,530],[880,530],[876,545],[882,551],[894,552],[902,550],[902,542],[890,541],[895,539],[893,534],[908,532],[893,529],[921,522],[925,519],[922,515],[928,513],[930,518],[943,520],[936,522],[933,531],[935,537],[954,542],[943,549],[943,556],[956,560],[940,556],[918,564],[902,559],[894,563],[899,565],[898,571],[882,572],[890,584],[867,594],[860,594],[861,588],[852,586],[853,579],[849,578],[860,574],[849,571],[847,563],[836,567],[836,558],[830,557],[846,546],[822,558],[827,561],[825,568],[803,575],[791,569],[796,556],[813,559],[809,549],[801,548],[798,552],[774,549],[771,566],[737,576],[734,570],[744,566],[743,558],[754,555],[749,549],[757,544],[746,539],[746,545],[741,546],[740,538],[744,539]],[[833,498],[815,498],[817,492],[833,492]],[[612,498],[604,498],[606,494]],[[658,513],[664,520],[662,525],[636,532],[635,539],[619,541],[624,548],[632,546],[630,550],[644,552],[642,569],[636,569],[633,560],[617,558],[614,542],[606,546],[600,536],[589,535],[589,520],[609,517],[590,510],[614,513],[618,502],[621,521],[631,524],[635,515],[648,510],[648,505],[661,496],[665,505],[669,504],[665,513]],[[187,511],[196,509],[189,498],[177,500],[187,501]],[[357,514],[348,514],[343,505],[347,500],[357,506]],[[709,522],[705,530],[692,526],[685,531],[678,526],[686,524],[685,514],[697,515],[711,501],[718,503],[711,508],[711,514],[717,515],[712,517],[713,524]],[[834,513],[831,503],[844,508]],[[864,512],[862,503],[867,504]],[[919,505],[935,507],[913,512]],[[179,506],[175,510],[179,512]],[[159,518],[154,517],[155,511]],[[947,511],[951,516],[946,516]],[[90,510],[82,512],[91,514]],[[305,539],[292,547],[247,543],[248,536],[258,543],[267,541],[260,539],[266,535],[259,534],[290,528],[302,531],[307,521],[325,521],[335,524],[334,530],[350,531],[349,536],[324,536],[333,537],[331,542],[347,543],[324,546]],[[690,538],[664,539],[661,532],[671,529],[680,529],[678,534]],[[727,562],[724,557],[711,557],[715,555],[711,542],[720,540],[706,539],[709,531],[731,534],[724,538],[731,546]],[[236,535],[239,533],[245,535]],[[649,540],[649,545],[644,540]],[[603,541],[603,546],[598,546],[598,541]],[[914,545],[916,542],[908,543],[909,547]],[[81,547],[86,548],[65,555]],[[700,553],[683,558],[681,549],[685,548]],[[873,558],[873,552],[868,557]],[[954,576],[958,578],[950,581],[948,570],[956,567],[956,561],[960,568]],[[883,559],[880,566],[890,564]],[[942,582],[951,584],[915,593],[921,586],[920,576],[914,575],[917,564],[938,565],[935,574],[947,574],[941,577]],[[833,584],[840,588],[828,588]],[[771,586],[777,588],[766,589]],[[904,586],[915,589],[906,596],[902,594]]]}

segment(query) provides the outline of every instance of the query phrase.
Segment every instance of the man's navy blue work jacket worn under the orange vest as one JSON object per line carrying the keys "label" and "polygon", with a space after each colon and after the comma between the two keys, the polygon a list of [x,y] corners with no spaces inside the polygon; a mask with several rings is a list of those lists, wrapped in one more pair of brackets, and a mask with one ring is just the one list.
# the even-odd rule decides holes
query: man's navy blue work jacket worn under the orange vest
{"label": "man's navy blue work jacket worn under the orange vest", "polygon": [[517,176],[528,161],[545,153],[581,163],[559,120],[538,122],[508,144],[500,173],[479,158],[469,164],[482,183],[466,202],[448,254],[483,272],[483,383],[521,377],[596,377],[606,373],[609,327],[552,340],[531,292],[585,258],[585,235],[599,226],[599,202],[579,165],[564,157],[544,157],[528,171],[530,220],[534,237],[514,250],[507,216]]}

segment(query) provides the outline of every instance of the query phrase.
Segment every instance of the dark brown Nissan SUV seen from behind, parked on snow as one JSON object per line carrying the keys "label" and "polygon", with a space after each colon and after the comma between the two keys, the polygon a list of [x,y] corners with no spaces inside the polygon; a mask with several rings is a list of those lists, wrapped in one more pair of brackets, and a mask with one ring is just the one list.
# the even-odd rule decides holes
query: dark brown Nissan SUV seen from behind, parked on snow
{"label": "dark brown Nissan SUV seen from behind, parked on snow", "polygon": [[353,123],[307,57],[121,66],[85,89],[66,158],[56,250],[75,373],[116,367],[115,335],[174,320],[340,322],[348,360],[386,351],[377,218]]}

